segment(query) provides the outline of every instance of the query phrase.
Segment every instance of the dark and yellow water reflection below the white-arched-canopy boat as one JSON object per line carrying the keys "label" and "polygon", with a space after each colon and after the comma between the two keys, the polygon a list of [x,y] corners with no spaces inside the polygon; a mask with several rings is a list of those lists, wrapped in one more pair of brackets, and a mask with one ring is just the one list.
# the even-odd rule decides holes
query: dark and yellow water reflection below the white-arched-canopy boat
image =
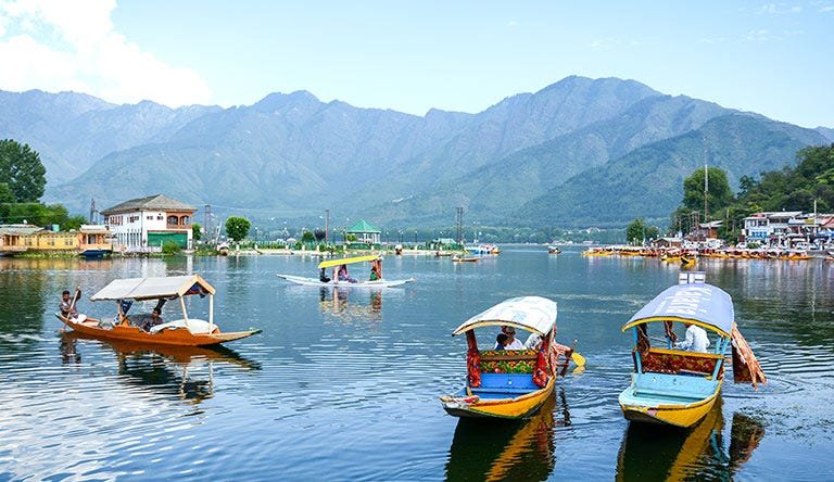
{"label": "dark and yellow water reflection below the white-arched-canopy boat", "polygon": [[555,459],[554,428],[570,426],[564,390],[523,420],[463,417],[446,461],[446,480],[545,480]]}

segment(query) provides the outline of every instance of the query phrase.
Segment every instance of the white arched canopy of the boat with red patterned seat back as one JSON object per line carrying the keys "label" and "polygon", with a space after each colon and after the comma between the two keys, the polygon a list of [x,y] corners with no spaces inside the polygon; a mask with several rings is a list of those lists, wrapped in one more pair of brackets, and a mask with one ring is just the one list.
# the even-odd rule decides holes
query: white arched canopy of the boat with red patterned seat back
{"label": "white arched canopy of the boat with red patterned seat back", "polygon": [[542,337],[556,325],[556,302],[541,296],[519,296],[503,301],[464,321],[452,332],[457,335],[489,326],[508,326],[532,331]]}

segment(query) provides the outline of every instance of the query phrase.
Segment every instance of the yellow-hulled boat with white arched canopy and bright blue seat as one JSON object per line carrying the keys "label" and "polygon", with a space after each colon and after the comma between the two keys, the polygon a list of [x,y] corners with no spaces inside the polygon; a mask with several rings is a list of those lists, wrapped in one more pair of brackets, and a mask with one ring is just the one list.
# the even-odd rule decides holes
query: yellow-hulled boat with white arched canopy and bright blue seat
{"label": "yellow-hulled boat with white arched canopy and bright blue seat", "polygon": [[[475,330],[507,326],[530,331],[529,350],[478,350]],[[564,376],[572,350],[556,343],[556,302],[540,296],[506,300],[476,315],[452,335],[466,333],[466,386],[440,397],[443,409],[455,417],[525,418],[553,394],[557,376]],[[541,343],[533,343],[541,340]],[[492,340],[488,342],[494,343]]]}

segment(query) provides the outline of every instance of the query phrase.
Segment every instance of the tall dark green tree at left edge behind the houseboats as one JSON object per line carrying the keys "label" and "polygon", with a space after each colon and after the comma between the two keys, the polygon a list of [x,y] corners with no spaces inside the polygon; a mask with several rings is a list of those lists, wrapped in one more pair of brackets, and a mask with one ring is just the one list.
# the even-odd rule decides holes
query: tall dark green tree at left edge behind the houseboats
{"label": "tall dark green tree at left edge behind the houseboats", "polygon": [[28,144],[21,145],[12,139],[0,140],[0,183],[5,183],[12,191],[14,202],[37,202],[47,186],[46,174],[40,155]]}

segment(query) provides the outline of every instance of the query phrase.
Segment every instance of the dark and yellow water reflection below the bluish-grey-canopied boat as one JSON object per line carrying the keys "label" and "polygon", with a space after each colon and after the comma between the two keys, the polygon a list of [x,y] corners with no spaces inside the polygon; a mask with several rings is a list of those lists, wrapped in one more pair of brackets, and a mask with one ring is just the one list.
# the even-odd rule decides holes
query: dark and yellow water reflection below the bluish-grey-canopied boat
{"label": "dark and yellow water reflection below the bluish-grey-canopied boat", "polygon": [[687,431],[629,423],[620,445],[617,480],[732,480],[759,446],[764,428],[754,418],[733,414],[726,447],[721,405],[718,397],[707,416]]}

